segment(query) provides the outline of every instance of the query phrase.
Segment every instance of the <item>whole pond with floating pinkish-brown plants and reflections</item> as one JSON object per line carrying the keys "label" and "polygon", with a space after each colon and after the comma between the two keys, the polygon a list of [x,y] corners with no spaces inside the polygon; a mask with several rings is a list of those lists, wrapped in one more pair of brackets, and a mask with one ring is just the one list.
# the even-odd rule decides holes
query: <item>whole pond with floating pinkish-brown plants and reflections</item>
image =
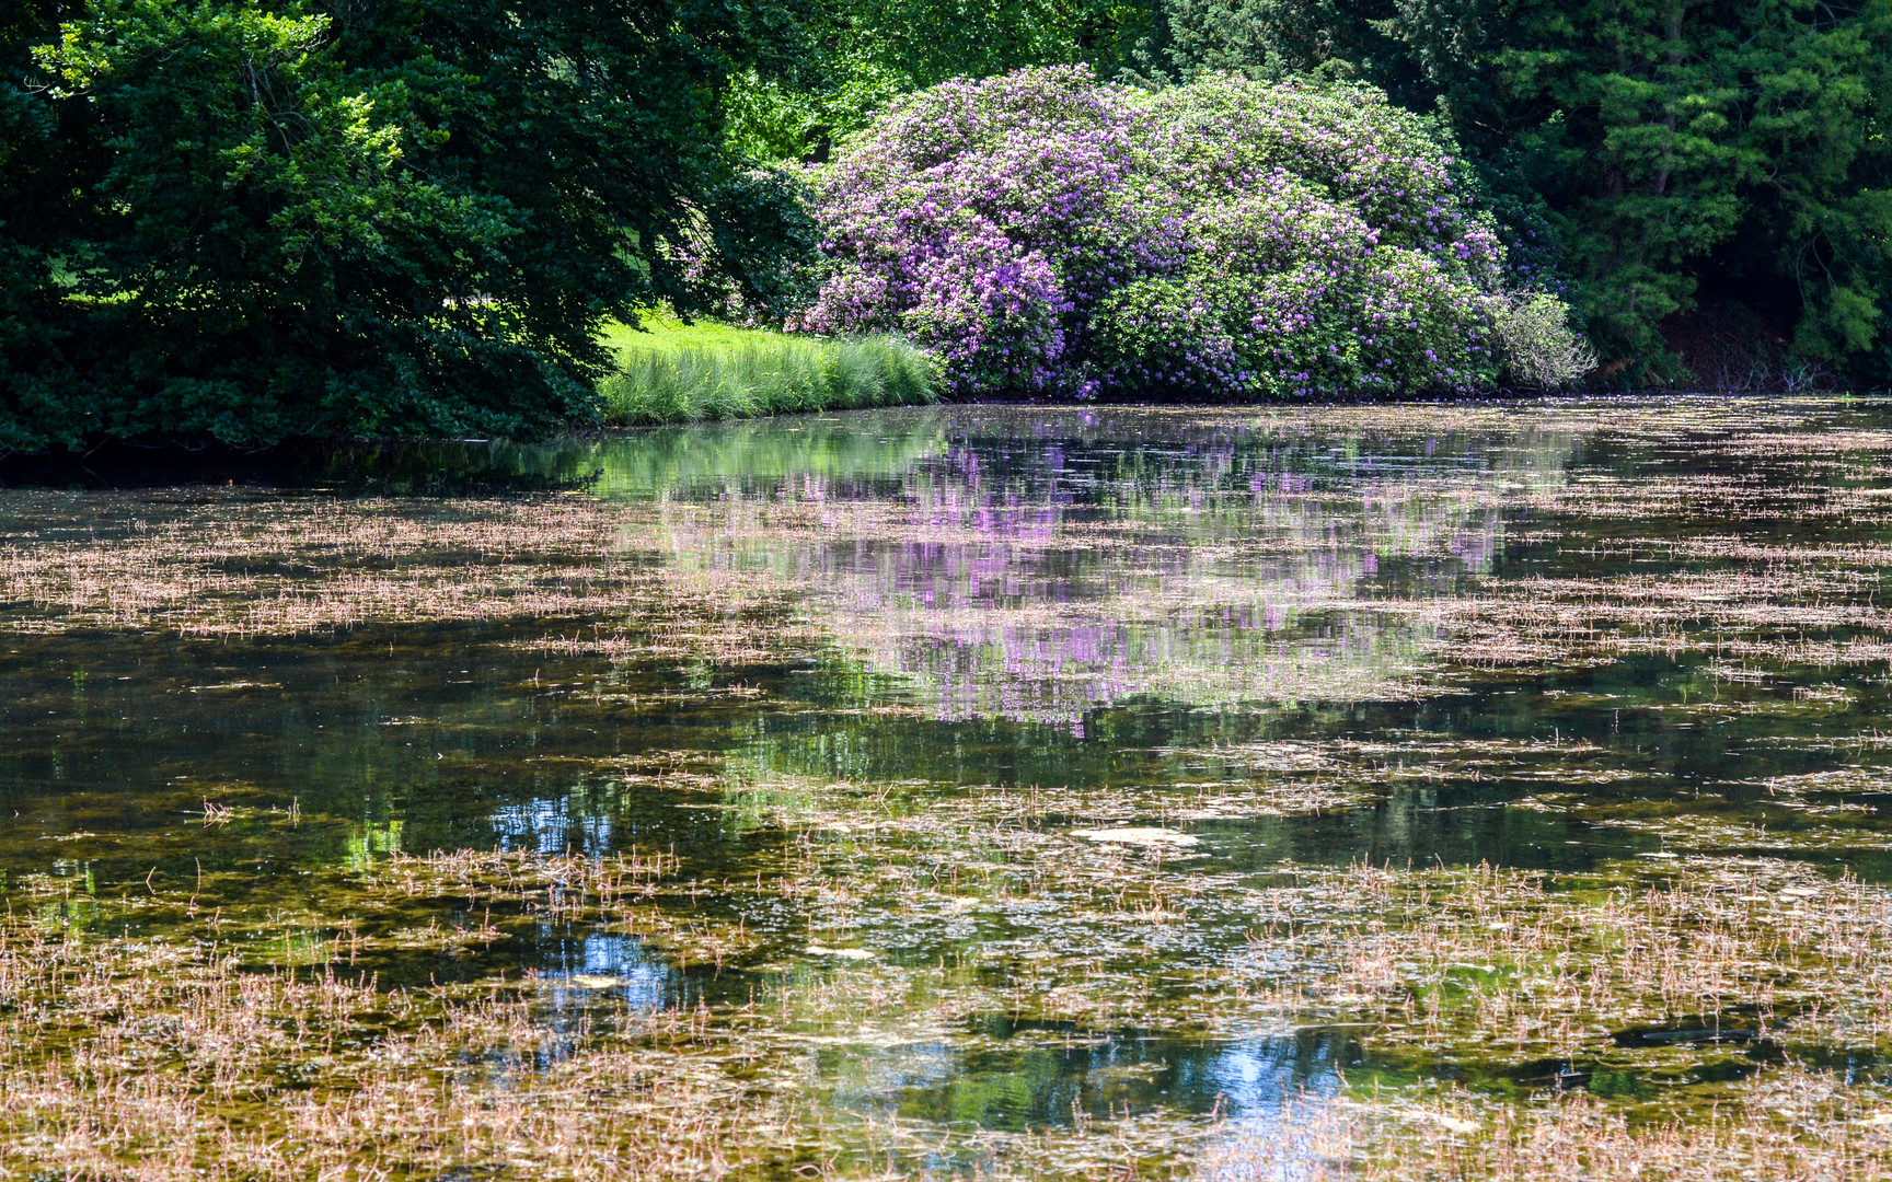
{"label": "whole pond with floating pinkish-brown plants and reflections", "polygon": [[1881,1176],[1888,569],[1847,399],[4,490],[0,1165]]}

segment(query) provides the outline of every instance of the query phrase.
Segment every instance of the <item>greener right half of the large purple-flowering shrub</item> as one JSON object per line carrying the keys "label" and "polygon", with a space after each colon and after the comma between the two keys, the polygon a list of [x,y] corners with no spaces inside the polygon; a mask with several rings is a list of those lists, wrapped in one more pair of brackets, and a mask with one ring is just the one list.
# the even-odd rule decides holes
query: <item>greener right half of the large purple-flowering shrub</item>
{"label": "greener right half of the large purple-flowering shrub", "polygon": [[1099,340],[1131,386],[1491,386],[1481,295],[1502,252],[1421,119],[1366,87],[1205,74],[1160,91],[1137,140],[1169,159],[1130,200],[1167,214],[1184,248],[1099,304]]}

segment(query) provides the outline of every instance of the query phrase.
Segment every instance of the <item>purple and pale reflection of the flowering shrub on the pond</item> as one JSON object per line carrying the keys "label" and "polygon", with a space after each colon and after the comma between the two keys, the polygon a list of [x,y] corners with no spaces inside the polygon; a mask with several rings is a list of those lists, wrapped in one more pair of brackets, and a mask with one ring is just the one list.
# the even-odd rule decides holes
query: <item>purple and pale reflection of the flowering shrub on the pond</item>
{"label": "purple and pale reflection of the flowering shrub on the pond", "polygon": [[1582,435],[1360,439],[1122,410],[927,420],[938,444],[897,480],[872,461],[798,480],[639,482],[605,465],[600,488],[658,495],[683,565],[810,584],[848,651],[937,719],[1082,728],[1139,696],[1417,692],[1425,630],[1374,600],[1451,594],[1489,569],[1502,497],[1555,480]]}

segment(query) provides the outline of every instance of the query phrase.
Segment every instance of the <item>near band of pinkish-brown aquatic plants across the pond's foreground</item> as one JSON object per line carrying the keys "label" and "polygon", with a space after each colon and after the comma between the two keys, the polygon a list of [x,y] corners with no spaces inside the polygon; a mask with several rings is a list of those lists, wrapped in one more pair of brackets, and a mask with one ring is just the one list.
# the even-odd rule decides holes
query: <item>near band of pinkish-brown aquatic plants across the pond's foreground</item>
{"label": "near band of pinkish-brown aquatic plants across the pond's foreground", "polygon": [[[1563,876],[1251,872],[1073,832],[1075,817],[1135,817],[1135,792],[940,794],[740,770],[685,792],[755,800],[780,840],[745,843],[721,879],[630,845],[390,853],[312,870],[320,891],[293,915],[252,898],[246,868],[146,879],[136,896],[57,874],[9,883],[23,906],[0,917],[0,1169],[721,1178],[819,1161],[885,1178],[944,1161],[935,1173],[1052,1180],[1099,1176],[1103,1159],[1230,1182],[1850,1182],[1892,1165],[1881,1072],[1797,1059],[1847,1046],[1856,1065],[1879,1061],[1883,885],[1744,857]],[[1235,834],[1203,836],[1213,849]],[[115,934],[129,919],[161,934]],[[579,966],[428,989],[369,970],[390,951],[473,966],[471,949],[547,934],[630,934],[753,989],[639,1004],[628,978]],[[912,957],[916,942],[946,955]],[[1283,1019],[1343,1017],[1375,1067],[1235,1120],[1073,1106],[1069,1127],[1010,1133],[969,1129],[963,1112],[902,1108],[889,1125],[846,1106],[850,1087],[889,1076],[927,1087],[906,1074],[916,1048],[991,1053],[980,1029],[1001,1014],[1010,1048],[1065,1053],[1124,1029],[1239,1048]],[[1453,1070],[1400,1082],[1400,1061]]]}

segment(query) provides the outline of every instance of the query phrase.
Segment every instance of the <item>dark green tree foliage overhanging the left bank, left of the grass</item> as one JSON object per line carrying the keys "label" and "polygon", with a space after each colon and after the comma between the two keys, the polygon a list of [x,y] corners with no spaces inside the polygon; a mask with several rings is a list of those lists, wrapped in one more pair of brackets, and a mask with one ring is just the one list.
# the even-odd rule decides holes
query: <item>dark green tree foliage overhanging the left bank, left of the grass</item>
{"label": "dark green tree foliage overhanging the left bank, left of the grass", "polygon": [[723,138],[766,0],[13,11],[0,448],[543,431],[604,316],[770,308],[812,244]]}

